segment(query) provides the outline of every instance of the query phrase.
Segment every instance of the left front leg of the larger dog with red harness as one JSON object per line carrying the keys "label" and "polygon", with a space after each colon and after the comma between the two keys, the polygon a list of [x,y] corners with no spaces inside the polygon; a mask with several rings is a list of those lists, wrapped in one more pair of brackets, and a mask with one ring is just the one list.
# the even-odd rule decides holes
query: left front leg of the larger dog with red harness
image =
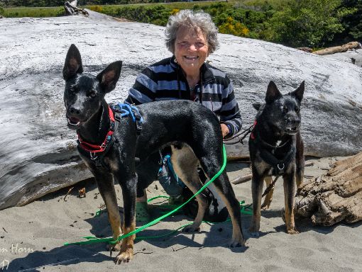
{"label": "left front leg of the larger dog with red harness", "polygon": [[[108,220],[111,224],[113,238],[116,239],[121,235],[122,231],[121,216],[119,215],[113,176],[112,174],[109,174],[108,171],[94,170],[92,172],[96,178],[99,193],[101,193],[104,203],[106,204]],[[111,250],[119,251],[119,249],[121,249],[120,242],[111,247]]]}

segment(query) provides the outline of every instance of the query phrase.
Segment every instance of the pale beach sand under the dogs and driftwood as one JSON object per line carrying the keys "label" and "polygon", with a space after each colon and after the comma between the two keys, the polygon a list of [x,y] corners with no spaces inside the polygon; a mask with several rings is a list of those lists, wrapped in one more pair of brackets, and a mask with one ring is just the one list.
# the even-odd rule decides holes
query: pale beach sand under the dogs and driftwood
{"label": "pale beach sand under the dogs and driftwood", "polygon": [[[307,176],[324,174],[339,158],[309,159]],[[229,178],[248,174],[248,164],[230,162]],[[85,187],[87,196],[79,198]],[[251,203],[251,182],[233,185],[238,200]],[[297,221],[300,234],[285,233],[280,217],[284,205],[283,182],[276,183],[270,210],[263,211],[258,239],[248,232],[251,216],[242,215],[246,248],[230,249],[231,222],[202,223],[194,234],[177,232],[169,237],[137,241],[130,263],[115,265],[106,244],[63,246],[84,236],[109,237],[106,212],[94,213],[103,201],[93,179],[82,181],[72,189],[51,193],[24,207],[0,211],[0,270],[3,271],[362,271],[362,223],[315,227]],[[155,182],[148,196],[165,195]],[[121,188],[116,185],[120,210]],[[154,200],[158,203],[160,200]],[[158,204],[151,211],[157,215]],[[185,215],[168,217],[140,233],[162,235],[190,222]],[[138,222],[138,226],[141,223]],[[116,252],[114,252],[116,256]]]}

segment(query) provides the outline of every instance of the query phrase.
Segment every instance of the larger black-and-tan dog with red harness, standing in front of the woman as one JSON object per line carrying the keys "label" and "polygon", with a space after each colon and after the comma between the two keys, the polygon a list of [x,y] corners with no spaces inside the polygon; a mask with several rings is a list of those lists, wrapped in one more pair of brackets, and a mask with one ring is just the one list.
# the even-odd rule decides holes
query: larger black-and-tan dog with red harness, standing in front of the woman
{"label": "larger black-and-tan dog with red harness, standing in front of the woman", "polygon": [[[121,73],[122,62],[109,64],[97,77],[83,74],[82,60],[75,45],[67,52],[63,77],[64,101],[68,126],[77,130],[78,151],[97,180],[99,192],[108,210],[109,222],[116,239],[136,228],[135,205],[137,190],[136,162],[142,163],[154,152],[172,145],[172,164],[175,172],[196,193],[202,183],[197,164],[212,178],[223,164],[222,135],[216,115],[192,101],[159,101],[138,106],[136,122],[131,114],[114,122],[105,94],[112,91]],[[117,114],[117,113],[116,113]],[[142,116],[141,132],[137,120]],[[89,151],[90,150],[90,151]],[[118,181],[124,198],[124,223],[121,219],[114,191]],[[218,193],[229,210],[233,224],[231,246],[244,244],[241,212],[234,191],[224,171],[214,181]],[[207,200],[197,196],[199,210],[192,225],[184,231],[194,232],[202,222]],[[116,263],[133,257],[134,235],[116,245],[121,252]]]}

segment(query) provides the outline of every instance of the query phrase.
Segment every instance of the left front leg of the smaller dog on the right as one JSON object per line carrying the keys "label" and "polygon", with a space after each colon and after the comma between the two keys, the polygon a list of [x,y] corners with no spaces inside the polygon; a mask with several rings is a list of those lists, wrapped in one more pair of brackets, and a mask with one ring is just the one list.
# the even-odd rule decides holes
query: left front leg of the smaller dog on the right
{"label": "left front leg of the smaller dog on the right", "polygon": [[251,195],[253,197],[253,217],[251,218],[251,236],[259,237],[261,196],[263,194],[263,176],[253,166],[253,178],[251,179]]}

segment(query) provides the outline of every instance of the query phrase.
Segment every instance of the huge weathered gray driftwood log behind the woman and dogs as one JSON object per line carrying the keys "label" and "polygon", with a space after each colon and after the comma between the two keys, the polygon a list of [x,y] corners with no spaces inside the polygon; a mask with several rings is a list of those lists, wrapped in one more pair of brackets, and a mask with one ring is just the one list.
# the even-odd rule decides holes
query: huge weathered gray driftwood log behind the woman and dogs
{"label": "huge weathered gray driftwood log behind the woman and dogs", "polygon": [[[81,50],[85,72],[95,75],[106,64],[124,61],[116,89],[106,96],[109,102],[124,101],[144,67],[170,57],[164,28],[88,12],[89,18],[6,18],[0,23],[0,209],[92,176],[65,118],[61,74],[70,43]],[[270,80],[283,94],[305,80],[305,154],[332,157],[361,151],[362,69],[255,39],[220,34],[219,41],[220,48],[208,59],[233,82],[243,128],[253,124],[252,105],[264,101]],[[248,157],[247,141],[228,145],[228,159]]]}

